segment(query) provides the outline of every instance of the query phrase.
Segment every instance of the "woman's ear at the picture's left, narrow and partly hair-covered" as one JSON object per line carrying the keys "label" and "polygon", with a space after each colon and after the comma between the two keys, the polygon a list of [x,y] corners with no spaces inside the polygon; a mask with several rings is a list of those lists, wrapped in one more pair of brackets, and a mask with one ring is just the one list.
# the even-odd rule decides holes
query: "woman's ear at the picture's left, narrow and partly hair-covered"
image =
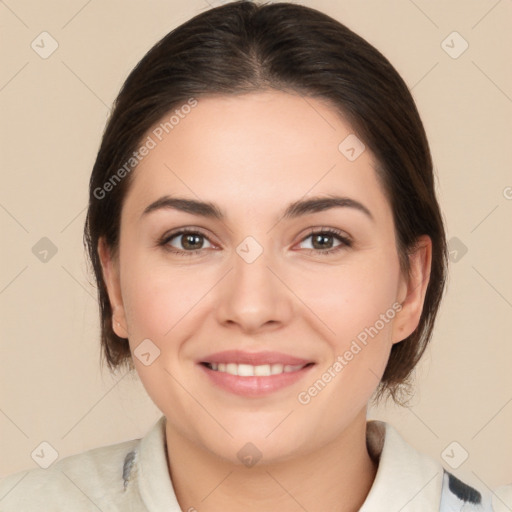
{"label": "woman's ear at the picture's left, narrow and partly hair-covered", "polygon": [[119,263],[112,257],[112,251],[103,237],[98,241],[98,255],[101,261],[103,280],[105,282],[108,298],[112,307],[112,329],[120,338],[127,338],[128,329],[126,325],[123,297],[121,295]]}

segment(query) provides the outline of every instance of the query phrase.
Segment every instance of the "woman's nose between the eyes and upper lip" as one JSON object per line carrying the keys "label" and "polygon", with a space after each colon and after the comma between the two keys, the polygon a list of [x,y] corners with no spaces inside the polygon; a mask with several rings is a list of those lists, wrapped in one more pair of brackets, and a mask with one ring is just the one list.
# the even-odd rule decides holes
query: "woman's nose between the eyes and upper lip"
{"label": "woman's nose between the eyes and upper lip", "polygon": [[244,253],[233,254],[232,270],[222,280],[217,319],[244,333],[277,329],[293,315],[293,293],[270,250],[251,262]]}

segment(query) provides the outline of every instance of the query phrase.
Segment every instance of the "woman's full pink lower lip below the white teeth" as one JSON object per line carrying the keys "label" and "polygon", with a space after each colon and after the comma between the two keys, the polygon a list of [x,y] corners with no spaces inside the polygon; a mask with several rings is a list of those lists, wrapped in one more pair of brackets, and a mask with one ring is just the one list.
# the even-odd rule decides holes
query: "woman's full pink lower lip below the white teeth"
{"label": "woman's full pink lower lip below the white teeth", "polygon": [[199,366],[216,386],[235,395],[260,397],[270,395],[295,384],[309,373],[309,370],[314,365],[307,366],[296,372],[279,373],[266,377],[240,377],[239,375],[211,370],[202,364]]}

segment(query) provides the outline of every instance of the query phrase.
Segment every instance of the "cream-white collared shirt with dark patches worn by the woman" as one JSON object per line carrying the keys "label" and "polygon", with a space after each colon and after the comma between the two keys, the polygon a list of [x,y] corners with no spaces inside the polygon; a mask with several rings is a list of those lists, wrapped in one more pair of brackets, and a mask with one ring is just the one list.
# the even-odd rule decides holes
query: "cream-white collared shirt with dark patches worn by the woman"
{"label": "cream-white collared shirt with dark patches worn by the woman", "polygon": [[[95,448],[57,460],[47,469],[5,477],[0,480],[0,511],[181,512],[167,467],[165,421],[162,416],[142,439]],[[367,422],[367,446],[378,460],[378,470],[361,512],[511,510],[512,486],[505,492],[508,507],[502,498],[493,509],[488,491],[454,479],[388,423]]]}

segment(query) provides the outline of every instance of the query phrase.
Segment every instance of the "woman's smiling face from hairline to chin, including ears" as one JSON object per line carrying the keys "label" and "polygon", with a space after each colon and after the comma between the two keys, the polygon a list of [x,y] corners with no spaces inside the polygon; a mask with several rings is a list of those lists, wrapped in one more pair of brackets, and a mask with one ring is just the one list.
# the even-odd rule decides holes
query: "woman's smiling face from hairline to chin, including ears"
{"label": "woman's smiling face from hairline to chin, including ears", "polygon": [[327,104],[186,110],[147,134],[118,258],[100,246],[114,328],[168,434],[234,462],[247,442],[267,461],[320,449],[364,418],[416,327],[428,251],[411,284],[376,162],[355,139],[340,150],[353,132]]}

